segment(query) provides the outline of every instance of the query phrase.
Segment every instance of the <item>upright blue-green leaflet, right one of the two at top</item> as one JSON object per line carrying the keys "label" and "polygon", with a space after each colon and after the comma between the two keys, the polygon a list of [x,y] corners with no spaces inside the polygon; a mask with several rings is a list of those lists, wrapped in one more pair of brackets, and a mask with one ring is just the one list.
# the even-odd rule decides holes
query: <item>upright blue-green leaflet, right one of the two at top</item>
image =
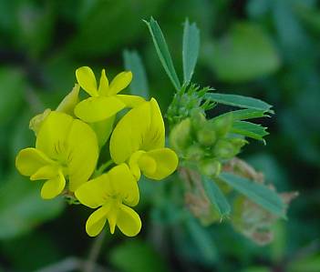
{"label": "upright blue-green leaflet, right one of the two at top", "polygon": [[183,84],[189,84],[197,64],[200,47],[200,32],[195,23],[189,24],[188,19],[184,23],[182,61]]}

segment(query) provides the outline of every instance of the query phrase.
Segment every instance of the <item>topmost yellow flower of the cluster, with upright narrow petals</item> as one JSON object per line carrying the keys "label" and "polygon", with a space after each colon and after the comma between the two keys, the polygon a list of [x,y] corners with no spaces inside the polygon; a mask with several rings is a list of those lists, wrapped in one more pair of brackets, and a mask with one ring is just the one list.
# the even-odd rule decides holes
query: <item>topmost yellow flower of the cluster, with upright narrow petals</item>
{"label": "topmost yellow flower of the cluster, with upright narrow petals", "polygon": [[76,71],[78,84],[88,93],[88,99],[81,101],[75,108],[75,115],[88,123],[98,122],[116,115],[126,106],[134,107],[144,99],[140,96],[118,95],[129,86],[132,79],[131,72],[119,73],[108,84],[105,69],[101,72],[99,86],[96,76],[88,66],[83,66]]}

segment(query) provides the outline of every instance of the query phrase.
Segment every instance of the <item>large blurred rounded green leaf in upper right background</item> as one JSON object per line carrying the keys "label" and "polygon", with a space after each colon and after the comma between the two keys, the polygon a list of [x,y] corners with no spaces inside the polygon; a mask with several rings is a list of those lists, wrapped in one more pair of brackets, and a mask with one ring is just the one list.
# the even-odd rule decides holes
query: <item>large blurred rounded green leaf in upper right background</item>
{"label": "large blurred rounded green leaf in upper right background", "polygon": [[274,73],[280,59],[263,27],[250,22],[232,25],[230,32],[208,46],[207,65],[223,81],[244,82]]}

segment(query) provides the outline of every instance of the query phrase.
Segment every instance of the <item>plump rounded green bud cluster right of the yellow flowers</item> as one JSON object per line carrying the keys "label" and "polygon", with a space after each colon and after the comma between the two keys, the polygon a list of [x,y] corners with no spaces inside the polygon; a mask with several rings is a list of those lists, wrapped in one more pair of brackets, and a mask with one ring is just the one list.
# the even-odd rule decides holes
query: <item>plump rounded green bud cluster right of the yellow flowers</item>
{"label": "plump rounded green bud cluster right of the yellow flowers", "polygon": [[193,110],[191,117],[173,126],[170,145],[186,165],[195,165],[206,176],[218,176],[222,163],[239,154],[247,143],[230,133],[232,116],[207,120],[204,114]]}

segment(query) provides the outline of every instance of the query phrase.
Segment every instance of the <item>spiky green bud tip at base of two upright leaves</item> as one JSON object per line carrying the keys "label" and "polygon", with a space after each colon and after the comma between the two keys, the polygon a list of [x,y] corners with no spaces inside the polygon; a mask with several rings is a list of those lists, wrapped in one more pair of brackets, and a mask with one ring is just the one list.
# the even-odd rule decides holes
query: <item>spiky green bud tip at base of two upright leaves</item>
{"label": "spiky green bud tip at base of two upright leaves", "polygon": [[182,120],[190,117],[193,111],[204,114],[206,110],[211,109],[215,104],[204,101],[204,95],[211,90],[211,87],[200,88],[194,84],[182,86],[181,90],[173,96],[167,111],[166,117],[170,126],[181,123]]}

